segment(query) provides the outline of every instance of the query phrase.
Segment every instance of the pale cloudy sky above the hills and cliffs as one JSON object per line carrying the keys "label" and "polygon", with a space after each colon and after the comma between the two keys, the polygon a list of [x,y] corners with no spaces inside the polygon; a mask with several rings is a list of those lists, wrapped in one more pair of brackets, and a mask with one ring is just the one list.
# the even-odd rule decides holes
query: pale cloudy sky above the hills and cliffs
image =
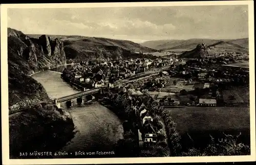
{"label": "pale cloudy sky above the hills and cliffs", "polygon": [[8,9],[8,27],[25,34],[81,35],[144,42],[248,37],[248,6]]}

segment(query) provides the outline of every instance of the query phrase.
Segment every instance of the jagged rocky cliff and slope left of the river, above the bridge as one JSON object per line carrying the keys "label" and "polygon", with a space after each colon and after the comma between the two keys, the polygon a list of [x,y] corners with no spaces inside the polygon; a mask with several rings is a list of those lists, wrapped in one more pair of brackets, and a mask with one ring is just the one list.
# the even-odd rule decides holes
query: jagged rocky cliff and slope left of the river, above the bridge
{"label": "jagged rocky cliff and slope left of the river, above the bridge", "polygon": [[[8,28],[8,81],[10,109],[49,99],[44,87],[31,75],[66,64],[63,42],[46,35],[32,38]],[[25,105],[26,104],[26,105]]]}

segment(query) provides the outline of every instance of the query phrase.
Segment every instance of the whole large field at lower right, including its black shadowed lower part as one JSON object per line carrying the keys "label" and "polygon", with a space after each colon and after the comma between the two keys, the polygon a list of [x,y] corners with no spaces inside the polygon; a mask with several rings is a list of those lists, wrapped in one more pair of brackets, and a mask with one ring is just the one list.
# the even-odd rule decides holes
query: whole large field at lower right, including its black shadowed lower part
{"label": "whole large field at lower right, including its black shadowed lower part", "polygon": [[[250,144],[250,116],[246,107],[168,108],[177,123],[181,144],[187,148],[205,148],[210,135],[221,139],[225,134],[239,135],[239,142]],[[193,140],[191,140],[193,139]]]}

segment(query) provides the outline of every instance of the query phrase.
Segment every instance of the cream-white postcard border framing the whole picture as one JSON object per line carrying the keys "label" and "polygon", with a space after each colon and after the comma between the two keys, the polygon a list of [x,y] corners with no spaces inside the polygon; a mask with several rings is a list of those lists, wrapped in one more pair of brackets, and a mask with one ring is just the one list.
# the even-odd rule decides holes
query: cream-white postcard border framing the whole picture
{"label": "cream-white postcard border framing the whole picture", "polygon": [[[72,158],[72,159],[9,159],[8,122],[8,64],[7,64],[7,9],[8,8],[93,8],[144,6],[202,6],[248,5],[249,16],[249,70],[250,70],[250,147],[247,156],[156,157],[156,158]],[[255,77],[254,77],[254,8],[253,1],[211,2],[150,2],[150,3],[76,3],[76,4],[1,4],[1,81],[2,81],[2,159],[3,164],[105,164],[152,162],[233,162],[255,161]]]}

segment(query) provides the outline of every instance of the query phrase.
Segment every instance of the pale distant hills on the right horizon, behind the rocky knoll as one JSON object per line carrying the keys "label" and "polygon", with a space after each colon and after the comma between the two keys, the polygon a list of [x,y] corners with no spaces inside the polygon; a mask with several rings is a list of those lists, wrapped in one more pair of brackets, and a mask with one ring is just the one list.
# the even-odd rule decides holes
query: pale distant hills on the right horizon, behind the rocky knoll
{"label": "pale distant hills on the right horizon, behind the rocky knoll", "polygon": [[248,38],[242,39],[232,39],[232,40],[216,40],[216,39],[188,39],[188,40],[156,40],[156,41],[146,41],[141,43],[148,48],[162,50],[162,51],[189,51],[195,49],[197,44],[205,43],[206,45],[211,45],[220,41],[226,41],[230,44],[236,44],[242,46],[243,48],[248,48]]}

